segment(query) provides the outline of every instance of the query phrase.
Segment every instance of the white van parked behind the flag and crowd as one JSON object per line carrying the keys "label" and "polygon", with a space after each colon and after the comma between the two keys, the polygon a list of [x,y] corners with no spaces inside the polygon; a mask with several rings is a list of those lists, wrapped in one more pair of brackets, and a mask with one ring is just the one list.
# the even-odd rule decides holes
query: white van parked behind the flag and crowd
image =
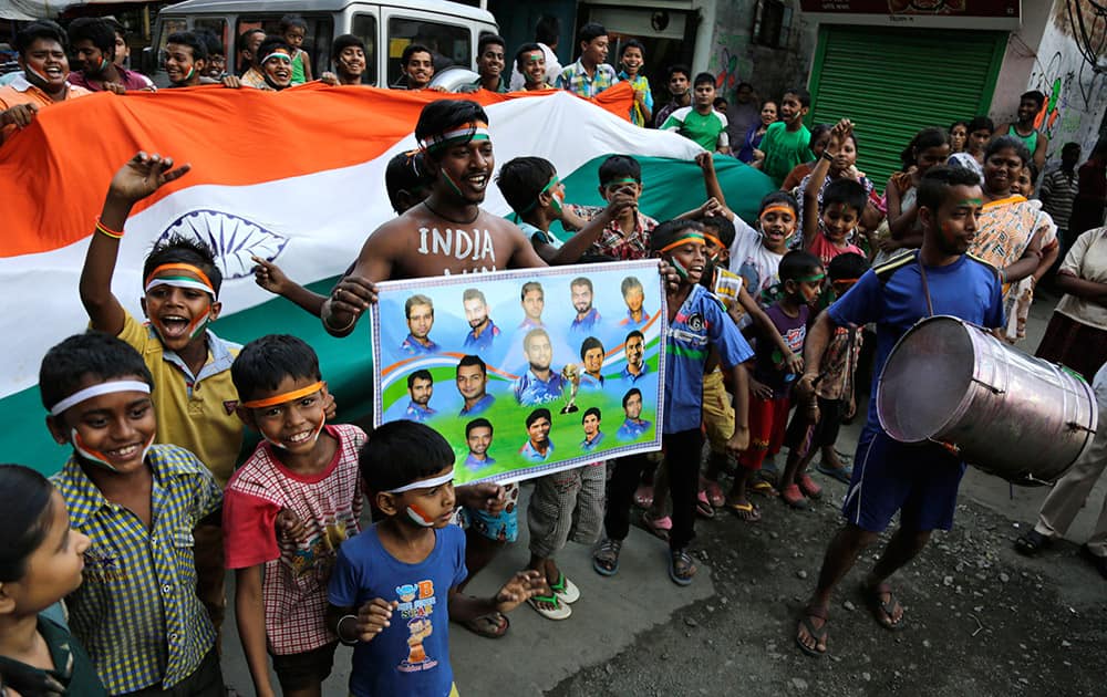
{"label": "white van parked behind the flag and crowd", "polygon": [[158,86],[165,75],[165,42],[177,31],[206,29],[227,48],[227,71],[235,72],[238,37],[261,28],[278,33],[280,18],[299,14],[308,23],[303,49],[311,55],[313,75],[331,70],[331,42],[354,34],[365,42],[366,85],[384,87],[401,77],[400,55],[411,43],[422,43],[434,55],[435,72],[449,66],[472,70],[473,54],[483,34],[498,33],[486,10],[446,0],[186,0],[157,14],[152,44],[142,69]]}

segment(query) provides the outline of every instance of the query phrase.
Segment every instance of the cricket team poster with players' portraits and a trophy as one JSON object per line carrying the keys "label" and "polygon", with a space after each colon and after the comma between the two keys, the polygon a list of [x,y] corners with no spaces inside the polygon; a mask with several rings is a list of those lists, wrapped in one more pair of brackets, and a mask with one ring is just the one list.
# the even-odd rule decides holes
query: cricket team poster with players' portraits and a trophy
{"label": "cricket team poster with players' portraits and a trophy", "polygon": [[[464,232],[461,232],[464,235]],[[661,447],[656,261],[379,284],[375,424],[425,423],[455,481],[514,481]]]}

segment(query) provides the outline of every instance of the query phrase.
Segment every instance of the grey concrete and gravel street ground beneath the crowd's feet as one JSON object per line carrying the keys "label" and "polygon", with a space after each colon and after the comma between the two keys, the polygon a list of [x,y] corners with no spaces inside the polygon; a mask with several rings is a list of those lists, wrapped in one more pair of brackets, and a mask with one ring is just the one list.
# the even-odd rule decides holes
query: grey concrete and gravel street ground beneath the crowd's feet
{"label": "grey concrete and gravel street ground beneath the crowd's feet", "polygon": [[[1056,300],[1039,295],[1024,350],[1036,348]],[[859,430],[860,420],[845,428],[839,449],[852,452]],[[570,544],[559,561],[582,593],[572,617],[550,622],[524,605],[511,613],[507,636],[495,641],[452,625],[451,656],[458,690],[494,697],[731,694],[739,689],[748,695],[777,695],[810,686],[831,695],[1090,695],[1101,687],[1100,678],[1088,683],[1080,674],[1099,665],[1097,659],[1088,664],[1038,652],[1069,651],[1073,657],[1072,652],[1083,646],[1084,656],[1100,655],[1105,638],[1101,600],[1107,586],[1075,559],[1075,548],[1049,560],[1026,561],[1011,553],[1011,540],[1033,522],[1047,489],[1011,488],[972,468],[961,487],[959,528],[931,545],[937,549],[924,553],[920,562],[925,563],[903,574],[903,590],[915,599],[907,605],[909,611],[918,608],[913,616],[920,617],[925,605],[932,621],[917,621],[892,643],[889,633],[872,628],[871,620],[855,621],[861,616],[858,613],[844,616],[838,624],[842,611],[836,610],[834,628],[850,631],[847,636],[832,634],[832,649],[849,647],[845,659],[832,655],[834,660],[820,663],[801,656],[792,645],[795,613],[810,591],[845,492],[837,482],[820,481],[830,496],[814,511],[787,511],[766,501],[762,503],[766,520],[759,527],[739,523],[725,512],[700,521],[697,554],[706,561],[689,587],[669,580],[665,543],[640,529],[632,529],[620,572],[610,579],[592,571],[589,550]],[[525,488],[525,496],[528,492]],[[1080,543],[1087,538],[1105,495],[1107,483],[1100,481],[1069,531],[1069,540]],[[526,539],[526,524],[521,524],[519,542],[505,549],[468,591],[490,594],[523,569],[528,559]],[[969,571],[981,571],[973,578],[964,571],[962,595],[962,578],[953,569],[961,572],[965,564]],[[985,587],[985,578],[995,587]],[[1015,581],[1024,581],[1025,589],[1012,595]],[[975,606],[956,604],[970,594],[986,599],[989,607],[984,600],[974,600]],[[232,592],[228,597],[234,597]],[[1004,600],[995,604],[1002,610],[992,610],[992,600],[1000,597]],[[846,601],[847,610],[853,608],[853,601]],[[1023,603],[1041,614],[1027,615],[1028,625],[1005,630]],[[1088,607],[1094,605],[1099,607],[1098,621],[1089,616]],[[993,612],[1003,614],[989,614]],[[972,633],[969,638],[975,626],[969,617],[983,622],[979,637]],[[959,638],[962,630],[964,637]],[[1093,631],[1098,634],[1089,634]],[[857,635],[870,638],[866,644]],[[228,612],[224,647],[228,685],[252,694],[232,612]],[[890,665],[882,665],[882,657]],[[346,694],[349,660],[350,649],[340,648],[324,695]],[[1036,663],[1042,667],[1035,668]]]}

